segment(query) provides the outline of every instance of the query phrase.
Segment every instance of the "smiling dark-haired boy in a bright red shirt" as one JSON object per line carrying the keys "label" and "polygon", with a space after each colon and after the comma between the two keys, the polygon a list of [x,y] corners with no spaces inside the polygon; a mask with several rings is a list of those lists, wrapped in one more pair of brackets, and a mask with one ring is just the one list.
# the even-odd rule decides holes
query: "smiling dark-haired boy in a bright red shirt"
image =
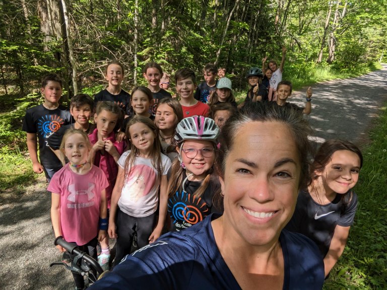
{"label": "smiling dark-haired boy in a bright red shirt", "polygon": [[175,73],[176,92],[180,96],[183,118],[190,116],[208,117],[210,107],[193,97],[196,87],[195,72],[189,68],[180,68]]}

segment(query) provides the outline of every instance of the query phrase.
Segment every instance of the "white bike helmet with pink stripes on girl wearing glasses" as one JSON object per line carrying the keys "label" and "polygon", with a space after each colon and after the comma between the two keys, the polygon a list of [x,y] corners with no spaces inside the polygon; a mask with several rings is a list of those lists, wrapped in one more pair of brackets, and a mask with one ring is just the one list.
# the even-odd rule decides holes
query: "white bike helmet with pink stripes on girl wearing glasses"
{"label": "white bike helmet with pink stripes on girl wearing glasses", "polygon": [[177,124],[175,140],[181,143],[185,140],[208,140],[217,143],[219,127],[214,120],[204,116],[184,118]]}

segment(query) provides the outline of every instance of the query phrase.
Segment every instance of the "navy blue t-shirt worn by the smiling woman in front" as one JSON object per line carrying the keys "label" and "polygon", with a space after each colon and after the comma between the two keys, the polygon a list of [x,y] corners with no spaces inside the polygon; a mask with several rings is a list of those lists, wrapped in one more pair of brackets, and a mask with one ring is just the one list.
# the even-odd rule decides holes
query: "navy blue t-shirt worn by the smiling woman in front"
{"label": "navy blue t-shirt worn by the smiling woman in front", "polygon": [[[212,214],[181,232],[167,233],[132,255],[89,289],[241,289],[215,242]],[[286,290],[317,290],[324,282],[324,263],[316,245],[303,235],[283,230]]]}

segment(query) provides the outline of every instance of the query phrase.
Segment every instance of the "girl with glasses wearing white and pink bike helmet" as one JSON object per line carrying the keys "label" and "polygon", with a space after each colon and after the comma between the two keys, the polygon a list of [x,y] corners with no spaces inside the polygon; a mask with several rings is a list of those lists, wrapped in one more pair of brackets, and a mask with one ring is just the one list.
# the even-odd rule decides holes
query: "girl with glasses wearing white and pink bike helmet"
{"label": "girl with glasses wearing white and pink bike helmet", "polygon": [[219,128],[214,120],[192,116],[181,120],[174,136],[178,159],[168,172],[171,231],[180,231],[220,212],[220,183],[215,174]]}

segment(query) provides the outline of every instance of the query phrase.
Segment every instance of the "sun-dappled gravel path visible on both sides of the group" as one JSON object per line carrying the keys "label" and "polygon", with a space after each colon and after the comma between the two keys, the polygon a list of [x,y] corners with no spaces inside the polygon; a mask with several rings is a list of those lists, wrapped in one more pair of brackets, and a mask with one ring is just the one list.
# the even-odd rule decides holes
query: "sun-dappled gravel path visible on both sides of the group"
{"label": "sun-dappled gravel path visible on both sides of the group", "polygon": [[[387,100],[387,65],[366,75],[312,85],[310,121],[316,143],[327,139],[367,142],[372,121]],[[306,87],[292,99],[303,106]],[[73,278],[63,267],[53,245],[50,194],[44,176],[23,192],[10,189],[0,197],[0,289],[70,290]]]}

